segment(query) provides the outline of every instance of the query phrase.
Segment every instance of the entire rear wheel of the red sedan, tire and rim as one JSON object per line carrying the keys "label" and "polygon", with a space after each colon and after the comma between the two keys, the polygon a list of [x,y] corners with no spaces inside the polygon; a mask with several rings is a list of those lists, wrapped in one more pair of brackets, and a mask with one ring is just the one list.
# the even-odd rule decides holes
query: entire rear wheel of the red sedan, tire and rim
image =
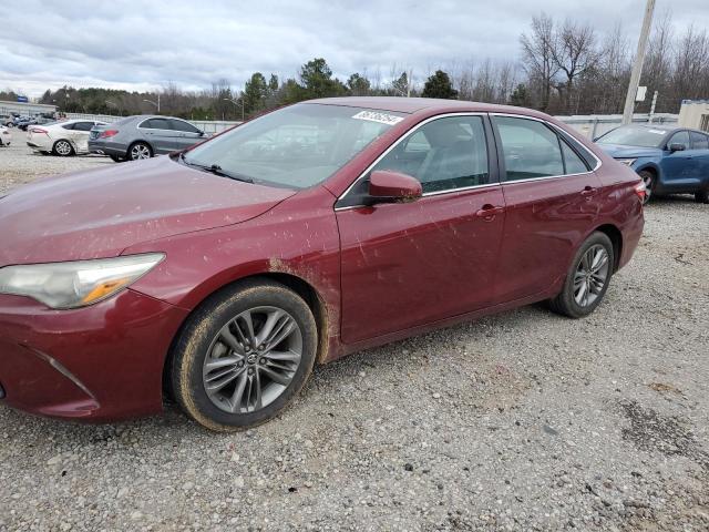
{"label": "entire rear wheel of the red sedan, tire and rim", "polygon": [[593,313],[606,294],[615,255],[610,238],[596,232],[578,248],[558,296],[549,301],[552,310],[569,318]]}

